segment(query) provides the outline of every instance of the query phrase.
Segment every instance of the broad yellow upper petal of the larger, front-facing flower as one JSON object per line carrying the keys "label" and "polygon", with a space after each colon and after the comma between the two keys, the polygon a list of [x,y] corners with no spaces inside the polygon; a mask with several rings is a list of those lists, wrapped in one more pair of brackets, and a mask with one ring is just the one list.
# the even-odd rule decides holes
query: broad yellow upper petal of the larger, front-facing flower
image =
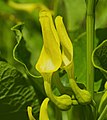
{"label": "broad yellow upper petal of the larger, front-facing flower", "polygon": [[59,69],[62,63],[59,38],[50,12],[40,12],[39,20],[44,43],[36,69],[41,74],[53,73]]}

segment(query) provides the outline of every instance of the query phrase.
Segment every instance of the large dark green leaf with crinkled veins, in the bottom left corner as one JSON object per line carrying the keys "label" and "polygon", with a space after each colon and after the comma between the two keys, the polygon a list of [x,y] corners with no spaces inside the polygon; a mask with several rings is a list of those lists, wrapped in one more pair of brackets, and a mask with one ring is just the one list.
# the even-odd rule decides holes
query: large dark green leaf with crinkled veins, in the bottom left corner
{"label": "large dark green leaf with crinkled veins, in the bottom left corner", "polygon": [[39,112],[33,86],[22,74],[5,61],[0,61],[0,119],[27,120],[27,106]]}

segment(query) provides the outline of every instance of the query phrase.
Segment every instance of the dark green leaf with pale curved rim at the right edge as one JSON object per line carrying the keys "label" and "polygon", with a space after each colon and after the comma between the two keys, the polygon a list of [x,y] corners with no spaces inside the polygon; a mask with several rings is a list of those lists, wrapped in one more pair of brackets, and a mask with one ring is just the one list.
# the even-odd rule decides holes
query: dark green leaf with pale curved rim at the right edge
{"label": "dark green leaf with pale curved rim at the right edge", "polygon": [[107,79],[107,40],[104,40],[92,53],[92,62]]}

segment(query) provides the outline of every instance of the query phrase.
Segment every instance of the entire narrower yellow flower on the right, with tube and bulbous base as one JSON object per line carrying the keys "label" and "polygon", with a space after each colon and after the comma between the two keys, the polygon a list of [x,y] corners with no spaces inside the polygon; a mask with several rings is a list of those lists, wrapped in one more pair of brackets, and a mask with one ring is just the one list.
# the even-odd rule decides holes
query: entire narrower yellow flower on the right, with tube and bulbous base
{"label": "entire narrower yellow flower on the right, with tube and bulbous base", "polygon": [[74,65],[73,65],[73,45],[66,32],[62,17],[57,16],[55,19],[56,29],[62,45],[62,68],[66,70],[70,86],[81,104],[91,102],[91,95],[87,90],[81,90],[74,80]]}

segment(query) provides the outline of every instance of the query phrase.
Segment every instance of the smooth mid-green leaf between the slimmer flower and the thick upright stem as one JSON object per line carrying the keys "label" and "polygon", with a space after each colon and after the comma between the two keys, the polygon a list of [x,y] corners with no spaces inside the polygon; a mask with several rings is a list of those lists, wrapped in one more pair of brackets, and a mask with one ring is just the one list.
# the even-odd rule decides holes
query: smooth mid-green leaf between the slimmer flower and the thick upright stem
{"label": "smooth mid-green leaf between the slimmer flower and the thick upright stem", "polygon": [[86,33],[73,41],[74,70],[77,81],[86,84]]}

